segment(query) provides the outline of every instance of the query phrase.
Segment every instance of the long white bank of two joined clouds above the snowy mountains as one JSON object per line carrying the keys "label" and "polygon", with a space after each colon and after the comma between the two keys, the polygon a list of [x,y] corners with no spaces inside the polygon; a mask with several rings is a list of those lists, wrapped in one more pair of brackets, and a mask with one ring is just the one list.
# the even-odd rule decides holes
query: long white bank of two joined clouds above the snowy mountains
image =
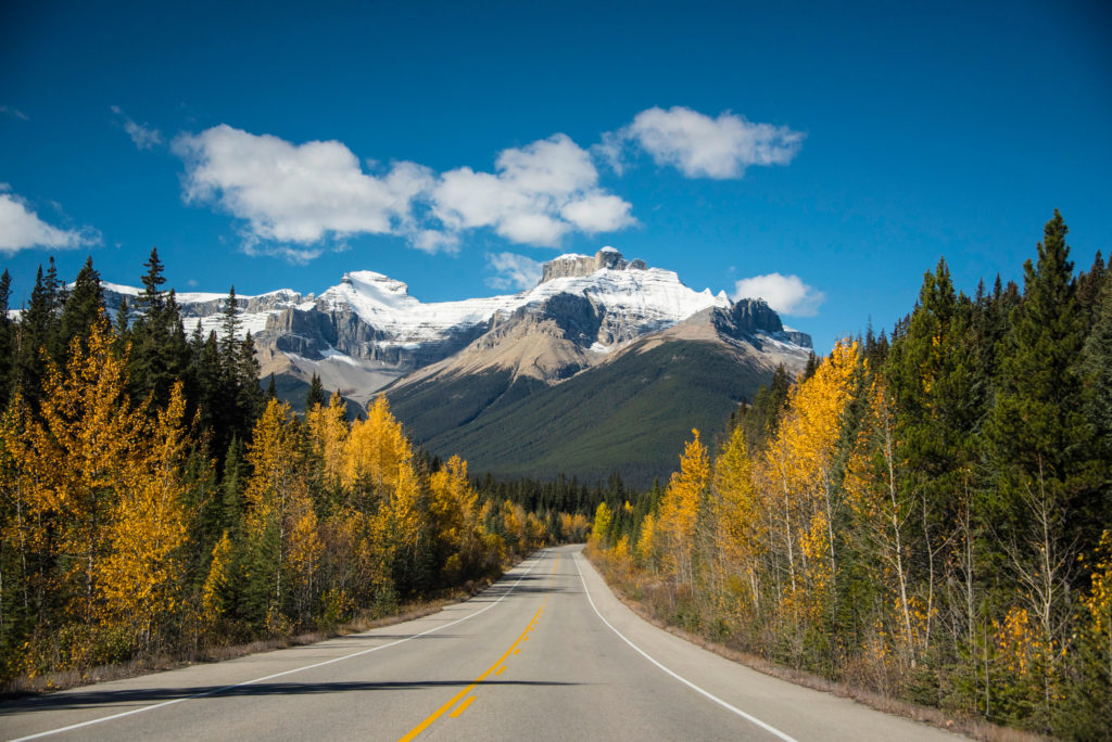
{"label": "long white bank of two joined clouds above the snowy mountains", "polygon": [[242,220],[252,254],[310,260],[322,243],[356,234],[455,251],[463,232],[481,228],[510,242],[554,247],[569,232],[636,223],[632,205],[598,187],[589,153],[565,134],[504,150],[494,172],[436,173],[398,162],[368,173],[341,142],[295,144],[227,124],[181,134],[172,149],[186,166],[185,200]]}

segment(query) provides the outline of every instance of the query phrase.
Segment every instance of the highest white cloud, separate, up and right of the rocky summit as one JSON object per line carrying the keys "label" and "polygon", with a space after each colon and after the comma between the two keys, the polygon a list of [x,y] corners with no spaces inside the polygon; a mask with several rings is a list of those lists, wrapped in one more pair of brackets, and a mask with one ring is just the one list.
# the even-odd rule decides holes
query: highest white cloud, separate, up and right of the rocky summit
{"label": "highest white cloud, separate, up and right of the rocky summit", "polygon": [[675,106],[651,108],[634,117],[616,134],[596,146],[617,172],[620,146],[637,146],[661,166],[672,166],[688,178],[742,178],[749,166],[787,164],[803,143],[803,134],[787,127],[753,123],[734,113],[716,119]]}

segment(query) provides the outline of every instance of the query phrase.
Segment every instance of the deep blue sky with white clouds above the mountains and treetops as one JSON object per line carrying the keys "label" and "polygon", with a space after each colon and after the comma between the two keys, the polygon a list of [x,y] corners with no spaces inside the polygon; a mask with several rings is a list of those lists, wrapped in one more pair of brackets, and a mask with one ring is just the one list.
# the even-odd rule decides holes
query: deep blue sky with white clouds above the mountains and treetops
{"label": "deep blue sky with white clouds above the mountains and treetops", "polygon": [[298,4],[4,3],[13,305],[50,254],[434,301],[613,244],[825,351],[941,255],[1019,279],[1054,208],[1112,249],[1105,2]]}

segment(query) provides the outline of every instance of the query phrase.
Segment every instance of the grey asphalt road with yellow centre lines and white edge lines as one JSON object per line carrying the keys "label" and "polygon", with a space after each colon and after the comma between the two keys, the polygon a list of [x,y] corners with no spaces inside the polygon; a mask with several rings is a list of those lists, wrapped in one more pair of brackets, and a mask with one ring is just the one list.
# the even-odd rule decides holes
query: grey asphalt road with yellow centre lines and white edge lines
{"label": "grey asphalt road with yellow centre lines and white edge lines", "polygon": [[642,621],[579,547],[474,599],[319,644],[0,705],[3,739],[929,740]]}

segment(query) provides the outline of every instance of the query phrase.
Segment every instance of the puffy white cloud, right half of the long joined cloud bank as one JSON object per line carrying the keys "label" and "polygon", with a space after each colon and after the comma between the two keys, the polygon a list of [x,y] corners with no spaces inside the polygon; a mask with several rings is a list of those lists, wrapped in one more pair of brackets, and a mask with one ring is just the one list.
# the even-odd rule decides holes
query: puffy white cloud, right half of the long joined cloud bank
{"label": "puffy white cloud, right half of the long joined cloud bank", "polygon": [[555,247],[572,231],[593,234],[636,223],[632,204],[598,188],[590,154],[566,134],[504,150],[494,173],[450,170],[431,201],[449,231],[489,227],[520,244]]}

